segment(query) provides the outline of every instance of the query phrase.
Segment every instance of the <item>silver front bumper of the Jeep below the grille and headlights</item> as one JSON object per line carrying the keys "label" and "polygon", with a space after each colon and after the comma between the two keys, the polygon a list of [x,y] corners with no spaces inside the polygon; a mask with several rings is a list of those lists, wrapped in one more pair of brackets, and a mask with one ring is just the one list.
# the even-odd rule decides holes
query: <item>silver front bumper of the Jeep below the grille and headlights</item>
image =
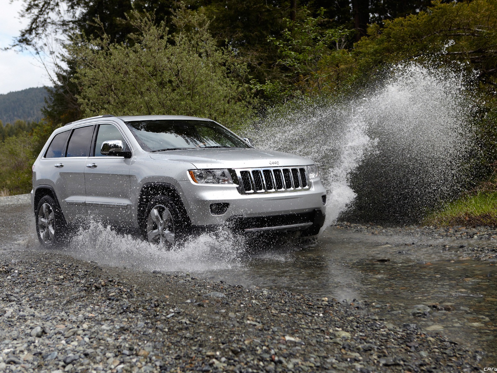
{"label": "silver front bumper of the Jeep below the grille and headlights", "polygon": [[[310,190],[249,195],[240,194],[235,185],[199,185],[189,181],[179,184],[186,212],[194,226],[249,221],[248,218],[265,218],[274,223],[270,225],[276,225],[278,221],[275,219],[281,215],[308,213],[314,216],[316,210],[323,216],[326,213],[322,198],[326,191],[320,179],[312,181]],[[222,215],[213,215],[210,205],[220,202],[229,203],[228,209]]]}

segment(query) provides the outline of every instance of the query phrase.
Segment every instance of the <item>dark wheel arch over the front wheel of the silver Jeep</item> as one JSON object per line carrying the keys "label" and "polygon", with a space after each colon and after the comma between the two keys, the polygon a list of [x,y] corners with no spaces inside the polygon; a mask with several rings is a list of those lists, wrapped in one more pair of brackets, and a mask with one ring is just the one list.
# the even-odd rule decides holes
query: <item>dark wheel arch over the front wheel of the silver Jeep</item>
{"label": "dark wheel arch over the front wheel of the silver Jeep", "polygon": [[143,228],[144,224],[146,224],[145,215],[148,204],[158,195],[166,195],[167,198],[174,202],[178,208],[178,212],[181,214],[184,224],[187,227],[191,226],[190,217],[186,212],[181,196],[173,185],[167,183],[147,183],[144,184],[140,190],[140,197],[138,200],[138,226],[140,228]]}

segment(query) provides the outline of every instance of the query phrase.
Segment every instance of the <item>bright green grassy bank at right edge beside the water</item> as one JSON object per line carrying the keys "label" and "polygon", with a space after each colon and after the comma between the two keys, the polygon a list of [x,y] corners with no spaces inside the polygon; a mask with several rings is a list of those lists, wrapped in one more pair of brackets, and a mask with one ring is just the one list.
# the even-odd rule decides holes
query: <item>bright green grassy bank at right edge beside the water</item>
{"label": "bright green grassy bank at right edge beside the water", "polygon": [[447,203],[426,216],[422,224],[437,226],[497,225],[497,191],[480,191]]}

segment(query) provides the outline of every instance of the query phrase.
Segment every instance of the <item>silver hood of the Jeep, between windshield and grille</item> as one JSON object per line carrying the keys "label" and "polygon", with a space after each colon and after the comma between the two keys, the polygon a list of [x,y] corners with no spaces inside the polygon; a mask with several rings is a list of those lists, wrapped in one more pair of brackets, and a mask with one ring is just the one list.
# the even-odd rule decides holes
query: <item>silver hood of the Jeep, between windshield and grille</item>
{"label": "silver hood of the Jeep, between windshield and grille", "polygon": [[241,169],[305,166],[314,164],[314,162],[309,158],[304,158],[298,155],[252,148],[200,148],[168,150],[165,152],[152,153],[150,157],[156,160],[188,162],[193,164],[198,169]]}

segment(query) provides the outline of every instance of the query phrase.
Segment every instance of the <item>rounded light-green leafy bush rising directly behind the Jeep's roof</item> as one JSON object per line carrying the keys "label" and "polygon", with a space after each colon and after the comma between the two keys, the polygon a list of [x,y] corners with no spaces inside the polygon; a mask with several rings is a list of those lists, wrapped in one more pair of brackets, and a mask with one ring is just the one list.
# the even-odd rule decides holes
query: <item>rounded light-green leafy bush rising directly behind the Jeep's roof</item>
{"label": "rounded light-green leafy bush rising directly behind the Jeep's roof", "polygon": [[181,7],[172,35],[153,16],[135,12],[131,22],[138,30],[132,46],[106,34],[68,45],[80,63],[75,82],[84,115],[195,115],[232,127],[248,116],[246,66],[216,46],[205,16]]}

